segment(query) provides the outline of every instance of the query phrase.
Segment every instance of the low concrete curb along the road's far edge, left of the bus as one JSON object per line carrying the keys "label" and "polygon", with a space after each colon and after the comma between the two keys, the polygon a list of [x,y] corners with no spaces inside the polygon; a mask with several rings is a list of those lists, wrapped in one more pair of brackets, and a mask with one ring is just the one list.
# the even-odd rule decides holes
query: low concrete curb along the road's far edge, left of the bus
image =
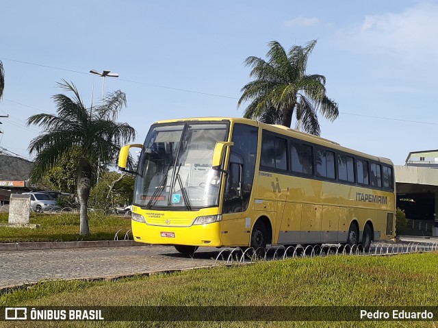
{"label": "low concrete curb along the road's far edge, left of the bus", "polygon": [[88,247],[143,246],[133,240],[96,240],[77,242],[5,242],[0,243],[0,251],[29,251],[41,249],[76,249]]}

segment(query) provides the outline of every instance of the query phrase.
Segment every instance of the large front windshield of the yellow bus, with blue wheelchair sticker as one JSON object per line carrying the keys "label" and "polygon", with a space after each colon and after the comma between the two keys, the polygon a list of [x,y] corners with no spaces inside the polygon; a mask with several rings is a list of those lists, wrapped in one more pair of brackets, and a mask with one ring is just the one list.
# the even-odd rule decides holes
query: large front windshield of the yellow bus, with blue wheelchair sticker
{"label": "large front windshield of the yellow bus, with blue wheelchair sticker", "polygon": [[148,209],[218,206],[220,174],[211,162],[228,130],[224,122],[153,125],[140,155],[133,203]]}

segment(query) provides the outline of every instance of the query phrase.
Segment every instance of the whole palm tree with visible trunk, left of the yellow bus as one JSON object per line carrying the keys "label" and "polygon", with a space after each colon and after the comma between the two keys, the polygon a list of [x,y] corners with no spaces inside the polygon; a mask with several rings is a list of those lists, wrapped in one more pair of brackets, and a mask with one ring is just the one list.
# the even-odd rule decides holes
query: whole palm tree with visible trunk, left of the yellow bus
{"label": "whole palm tree with visible trunk, left of the yellow bus", "polygon": [[125,106],[125,93],[120,90],[107,94],[103,105],[86,108],[74,84],[65,80],[60,87],[73,93],[73,97],[55,94],[57,115],[36,114],[27,119],[27,125],[43,128],[40,136],[31,140],[29,153],[36,153],[34,167],[30,173],[32,181],[44,177],[73,149],[80,149],[77,162],[77,195],[80,210],[80,234],[90,234],[88,227],[88,198],[94,183],[97,163],[112,164],[118,157],[120,144],[136,137],[136,130],[127,123],[117,123],[118,112]]}

